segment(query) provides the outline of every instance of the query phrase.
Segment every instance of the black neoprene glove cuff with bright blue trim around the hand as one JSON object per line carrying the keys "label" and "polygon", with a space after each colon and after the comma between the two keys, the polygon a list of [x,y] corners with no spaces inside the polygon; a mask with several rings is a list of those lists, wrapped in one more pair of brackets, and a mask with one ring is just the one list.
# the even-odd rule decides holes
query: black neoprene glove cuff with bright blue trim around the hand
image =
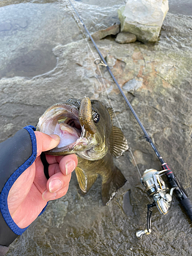
{"label": "black neoprene glove cuff with bright blue trim around the hand", "polygon": [[36,159],[37,145],[34,131],[35,127],[26,126],[12,138],[0,143],[0,245],[2,246],[9,246],[28,228],[19,228],[15,224],[9,213],[7,198],[13,183]]}

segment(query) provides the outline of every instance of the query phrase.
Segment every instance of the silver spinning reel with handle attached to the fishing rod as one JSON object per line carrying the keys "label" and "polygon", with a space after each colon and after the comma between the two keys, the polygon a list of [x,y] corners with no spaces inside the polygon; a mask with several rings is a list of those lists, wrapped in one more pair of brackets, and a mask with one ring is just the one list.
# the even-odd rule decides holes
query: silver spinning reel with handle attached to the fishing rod
{"label": "silver spinning reel with handle attached to the fishing rod", "polygon": [[160,214],[167,214],[172,204],[173,191],[176,187],[172,187],[170,190],[165,186],[165,182],[161,178],[161,175],[166,172],[167,169],[158,172],[155,169],[146,169],[141,177],[141,183],[146,188],[148,196],[152,197],[154,202],[147,205],[147,229],[138,230],[136,237],[141,239],[143,234],[151,233],[151,217],[152,207],[156,206]]}

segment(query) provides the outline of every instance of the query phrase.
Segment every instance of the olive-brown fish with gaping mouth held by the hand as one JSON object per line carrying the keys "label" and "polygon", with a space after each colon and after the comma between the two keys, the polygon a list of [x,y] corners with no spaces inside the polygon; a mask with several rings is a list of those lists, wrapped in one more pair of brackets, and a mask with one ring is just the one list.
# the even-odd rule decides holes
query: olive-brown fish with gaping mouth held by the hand
{"label": "olive-brown fish with gaping mouth held by the hand", "polygon": [[99,100],[70,98],[50,106],[36,126],[36,131],[60,137],[58,146],[45,154],[77,155],[75,173],[83,195],[101,176],[103,205],[108,204],[126,182],[113,157],[122,156],[129,146],[121,129],[113,125],[113,113],[112,108]]}

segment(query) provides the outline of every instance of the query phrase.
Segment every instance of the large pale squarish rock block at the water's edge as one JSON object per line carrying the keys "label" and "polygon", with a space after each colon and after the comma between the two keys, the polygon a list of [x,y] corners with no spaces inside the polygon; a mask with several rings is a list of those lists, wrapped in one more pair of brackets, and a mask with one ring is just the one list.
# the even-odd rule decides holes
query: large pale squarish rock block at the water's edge
{"label": "large pale squarish rock block at the water's edge", "polygon": [[121,32],[133,33],[142,42],[155,42],[167,11],[168,0],[128,0],[118,10]]}

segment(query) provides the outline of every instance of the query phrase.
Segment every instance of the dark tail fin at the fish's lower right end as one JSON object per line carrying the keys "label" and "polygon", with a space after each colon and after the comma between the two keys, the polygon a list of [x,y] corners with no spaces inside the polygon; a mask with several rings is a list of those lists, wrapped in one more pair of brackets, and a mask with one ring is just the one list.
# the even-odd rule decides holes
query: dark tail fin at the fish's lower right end
{"label": "dark tail fin at the fish's lower right end", "polygon": [[117,189],[122,187],[126,182],[125,177],[121,171],[115,166],[112,176],[102,183],[102,203],[106,205],[109,203],[117,193]]}

